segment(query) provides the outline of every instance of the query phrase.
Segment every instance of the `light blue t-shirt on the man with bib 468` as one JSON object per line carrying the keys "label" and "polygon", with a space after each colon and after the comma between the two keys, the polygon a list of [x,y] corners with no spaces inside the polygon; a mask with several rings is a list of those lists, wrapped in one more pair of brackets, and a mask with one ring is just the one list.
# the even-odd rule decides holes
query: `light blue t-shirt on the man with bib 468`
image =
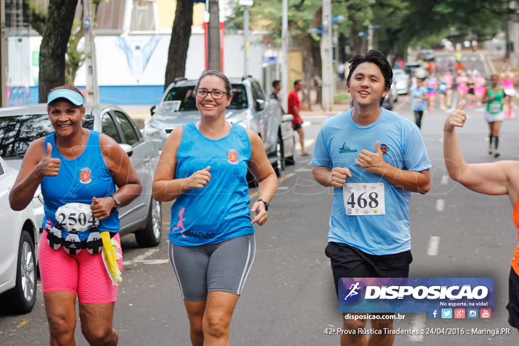
{"label": "light blue t-shirt on the man with bib 468", "polygon": [[378,120],[365,127],[353,121],[352,109],[327,119],[317,137],[311,161],[315,167],[330,170],[347,167],[352,177],[347,177],[346,183],[384,183],[384,215],[347,215],[343,189],[334,188],[329,242],[346,243],[372,255],[411,249],[411,192],[394,187],[382,176],[359,167],[355,159],[361,150],[375,152],[375,143],[380,141],[384,161],[390,165],[418,172],[431,167],[418,127],[385,108],[381,110]]}

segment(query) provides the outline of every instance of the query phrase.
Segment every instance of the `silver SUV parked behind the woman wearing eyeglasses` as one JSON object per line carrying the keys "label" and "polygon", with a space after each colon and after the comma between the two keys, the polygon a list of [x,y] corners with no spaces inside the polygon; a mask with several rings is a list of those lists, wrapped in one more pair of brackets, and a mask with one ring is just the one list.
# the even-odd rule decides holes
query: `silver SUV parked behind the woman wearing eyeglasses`
{"label": "silver SUV parked behind the woman wearing eyeglasses", "polygon": [[[294,162],[294,133],[292,115],[283,115],[275,99],[267,98],[260,83],[252,77],[230,78],[233,100],[227,107],[225,119],[260,135],[272,167],[278,176],[285,162]],[[157,106],[152,107],[152,119],[144,127],[144,136],[162,150],[173,129],[200,119],[194,90],[197,80],[177,78],[168,86]]]}

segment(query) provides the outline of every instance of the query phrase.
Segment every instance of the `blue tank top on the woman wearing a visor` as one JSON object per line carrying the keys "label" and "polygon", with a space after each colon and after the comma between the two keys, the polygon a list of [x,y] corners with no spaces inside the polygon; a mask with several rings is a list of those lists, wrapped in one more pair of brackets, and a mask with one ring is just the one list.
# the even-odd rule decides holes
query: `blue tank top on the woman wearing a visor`
{"label": "blue tank top on the woman wearing a visor", "polygon": [[[75,160],[65,159],[56,148],[54,133],[45,137],[45,152],[47,143],[52,145],[51,157],[61,160],[60,171],[57,176],[43,178],[42,195],[44,199],[45,218],[43,226],[50,229],[57,225],[56,210],[67,203],[91,204],[92,197],[107,197],[115,192],[115,183],[110,171],[106,167],[101,148],[99,147],[98,131],[90,131],[88,143]],[[119,231],[119,213],[112,211],[108,218],[99,222],[98,229],[102,231]],[[63,237],[68,232],[63,231]],[[88,238],[89,231],[78,232],[81,241]]]}

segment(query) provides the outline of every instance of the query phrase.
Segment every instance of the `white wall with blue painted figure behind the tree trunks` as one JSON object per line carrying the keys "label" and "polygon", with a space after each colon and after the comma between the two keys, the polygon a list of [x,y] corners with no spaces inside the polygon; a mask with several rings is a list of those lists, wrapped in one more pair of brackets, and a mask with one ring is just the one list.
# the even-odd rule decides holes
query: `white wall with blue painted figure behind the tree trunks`
{"label": "white wall with blue painted figure behind the tree trunks", "polygon": [[[95,36],[99,86],[163,85],[168,61],[170,34],[159,35],[98,35]],[[249,74],[262,78],[262,35],[250,34]],[[42,38],[30,37],[31,54],[39,51]],[[243,75],[243,36],[228,34],[224,41],[224,73],[228,77]],[[30,57],[23,65],[30,68]],[[13,66],[15,70],[22,66]],[[25,67],[23,67],[25,68]],[[186,78],[196,79],[204,70],[203,33],[192,33],[186,59]],[[10,70],[10,74],[14,71]],[[38,68],[31,68],[31,86],[38,77]],[[79,67],[75,85],[86,84],[86,68]]]}

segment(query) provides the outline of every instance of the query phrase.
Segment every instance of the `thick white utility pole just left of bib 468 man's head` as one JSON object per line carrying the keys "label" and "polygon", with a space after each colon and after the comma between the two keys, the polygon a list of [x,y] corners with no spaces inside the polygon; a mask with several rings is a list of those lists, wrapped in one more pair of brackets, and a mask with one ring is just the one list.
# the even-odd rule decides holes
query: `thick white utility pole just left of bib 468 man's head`
{"label": "thick white utility pole just left of bib 468 man's head", "polygon": [[332,110],[333,94],[335,93],[332,65],[332,3],[331,0],[323,0],[323,27],[321,42],[322,60],[322,107],[324,110]]}

